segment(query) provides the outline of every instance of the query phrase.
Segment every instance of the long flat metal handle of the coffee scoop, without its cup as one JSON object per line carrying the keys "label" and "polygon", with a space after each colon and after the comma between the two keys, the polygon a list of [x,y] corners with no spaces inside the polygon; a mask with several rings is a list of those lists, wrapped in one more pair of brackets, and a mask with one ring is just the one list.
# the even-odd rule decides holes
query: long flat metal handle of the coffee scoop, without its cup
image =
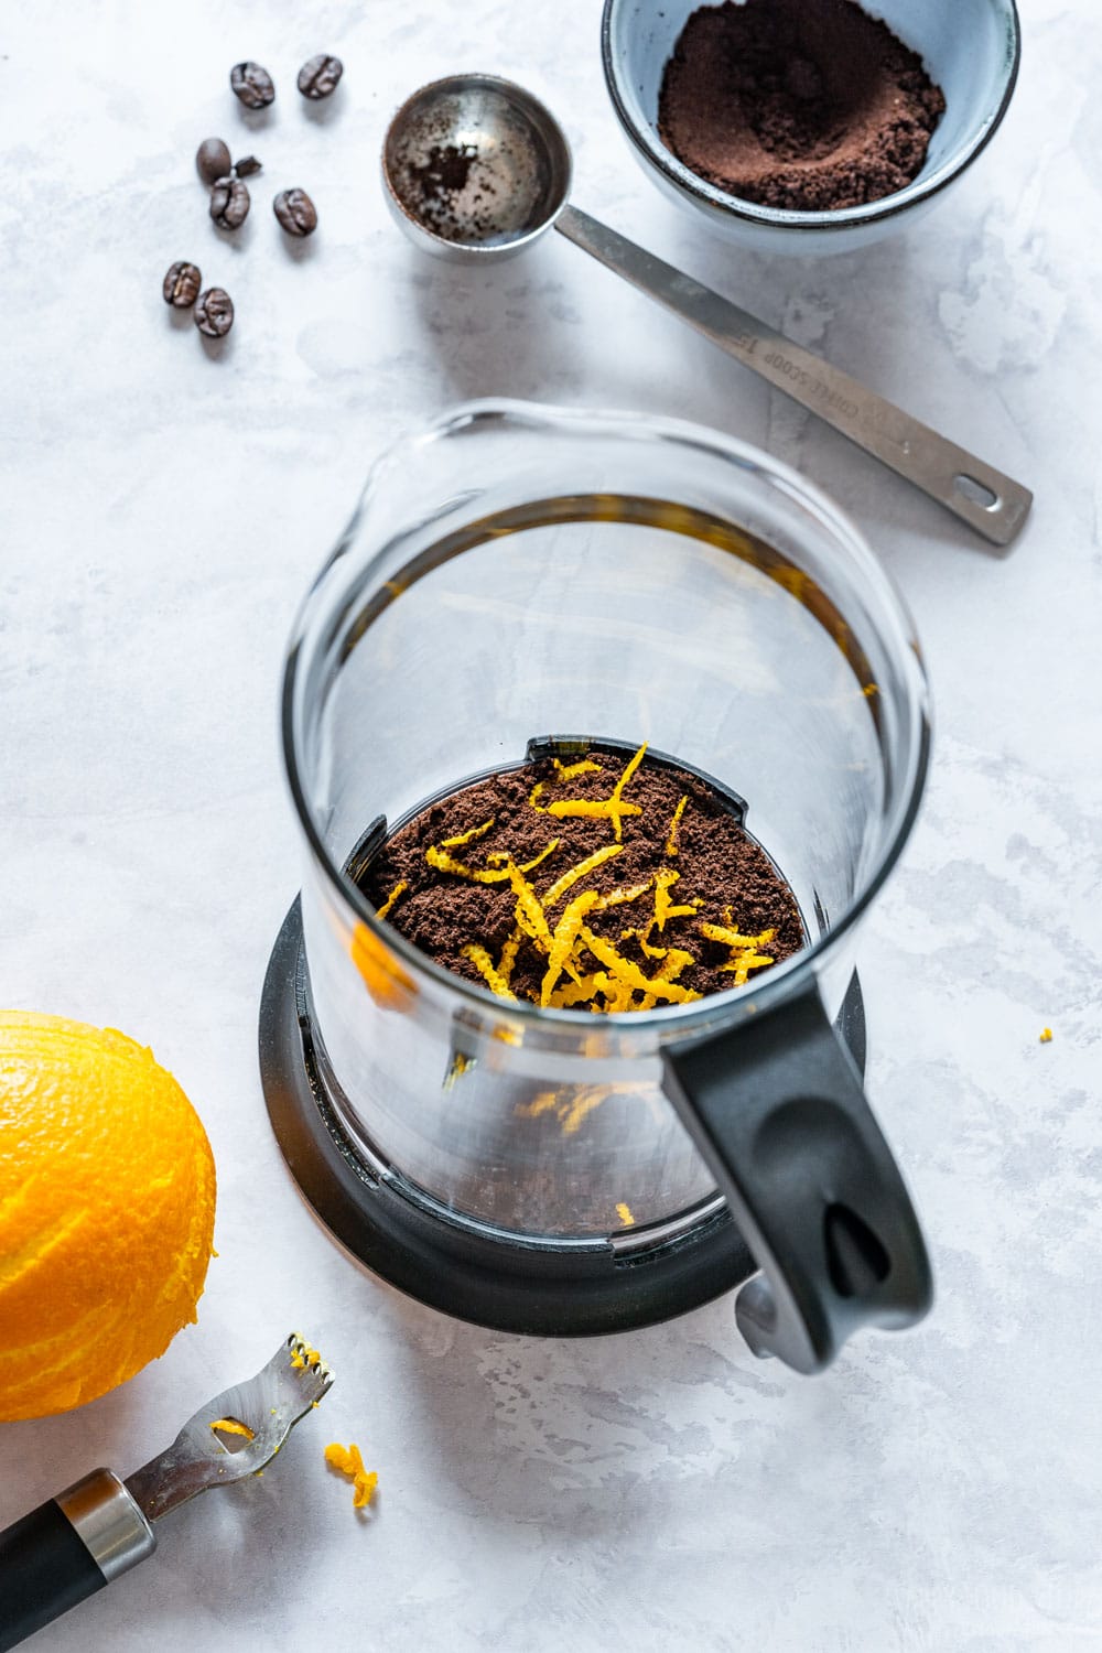
{"label": "long flat metal handle of the coffee scoop, without its cup", "polygon": [[1018,536],[1033,504],[1021,483],[577,207],[565,207],[555,228],[991,544]]}

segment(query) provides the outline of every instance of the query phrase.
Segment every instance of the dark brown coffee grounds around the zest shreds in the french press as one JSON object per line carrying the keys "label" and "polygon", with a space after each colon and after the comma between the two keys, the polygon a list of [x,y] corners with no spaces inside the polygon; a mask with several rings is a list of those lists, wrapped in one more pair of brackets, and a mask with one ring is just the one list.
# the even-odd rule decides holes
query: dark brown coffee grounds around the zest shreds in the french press
{"label": "dark brown coffee grounds around the zest shreds in the french press", "polygon": [[[620,754],[600,749],[590,754],[591,764],[600,769],[588,767],[583,774],[572,774],[572,760],[563,760],[557,769],[552,759],[542,759],[431,803],[372,860],[362,881],[368,901],[377,909],[387,909],[387,922],[436,964],[469,982],[492,985],[486,969],[464,949],[481,949],[484,964],[501,969],[502,955],[507,957],[511,937],[517,932],[515,888],[509,879],[477,883],[463,873],[435,866],[428,858],[430,851],[436,861],[449,858],[468,871],[499,871],[506,858],[512,858],[515,866],[525,866],[557,838],[558,848],[524,874],[537,899],[545,901],[563,873],[616,843],[613,822],[606,815],[557,817],[545,812],[555,802],[588,800],[600,805],[610,798],[629,767]],[[681,798],[686,803],[672,828],[671,853],[671,825]],[[735,929],[747,937],[773,931],[773,937],[762,942],[752,955],[775,962],[791,957],[806,944],[791,889],[768,855],[739,826],[730,805],[715,788],[684,770],[643,759],[623,788],[623,802],[636,805],[639,813],[623,815],[620,851],[547,904],[550,932],[562,921],[568,903],[585,891],[608,896],[644,886],[631,901],[587,912],[585,924],[598,942],[611,944],[648,980],[666,962],[658,949],[663,954],[667,949],[691,954],[692,962],[676,974],[676,984],[692,997],[737,985],[737,972],[724,969],[732,962],[732,947],[709,939],[702,932],[704,924]],[[489,820],[492,826],[486,828]],[[454,843],[464,836],[466,843]],[[448,840],[453,843],[446,845]],[[666,889],[667,906],[694,909],[667,916],[663,929],[653,922],[659,884]],[[398,894],[388,904],[395,891]],[[625,936],[625,931],[633,934]],[[653,949],[649,954],[643,942]],[[606,964],[588,954],[583,944],[573,960],[583,979],[596,972],[608,974]],[[547,949],[522,934],[515,962],[507,972],[511,993],[539,1003],[547,969]],[[767,970],[765,964],[753,965],[747,979],[758,980]],[[567,972],[560,975],[558,988],[573,992]],[[626,993],[626,984],[623,992]],[[580,1002],[575,1008],[588,1012],[610,1005],[598,995],[591,1007]],[[641,1010],[651,1005],[636,990],[629,1002],[616,1008]]]}

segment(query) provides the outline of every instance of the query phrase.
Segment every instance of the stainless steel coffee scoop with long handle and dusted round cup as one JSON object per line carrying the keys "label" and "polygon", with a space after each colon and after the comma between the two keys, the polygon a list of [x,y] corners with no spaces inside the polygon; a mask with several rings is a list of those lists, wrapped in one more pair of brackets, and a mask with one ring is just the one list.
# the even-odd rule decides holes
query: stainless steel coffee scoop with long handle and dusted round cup
{"label": "stainless steel coffee scoop with long handle and dusted round cup", "polygon": [[469,266],[552,226],[810,408],[995,545],[1033,494],[681,269],[568,205],[570,145],[549,109],[496,74],[449,74],[403,102],[383,144],[388,205],[416,246]]}

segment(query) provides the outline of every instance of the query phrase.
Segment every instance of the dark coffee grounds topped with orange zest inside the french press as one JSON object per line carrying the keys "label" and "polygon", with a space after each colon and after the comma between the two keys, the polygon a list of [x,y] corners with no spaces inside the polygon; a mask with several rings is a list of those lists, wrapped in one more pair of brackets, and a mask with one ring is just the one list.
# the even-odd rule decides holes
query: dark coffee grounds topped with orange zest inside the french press
{"label": "dark coffee grounds topped with orange zest inside the french press", "polygon": [[689,1003],[806,942],[791,889],[730,802],[644,749],[593,747],[463,787],[393,833],[362,888],[436,964],[555,1008]]}

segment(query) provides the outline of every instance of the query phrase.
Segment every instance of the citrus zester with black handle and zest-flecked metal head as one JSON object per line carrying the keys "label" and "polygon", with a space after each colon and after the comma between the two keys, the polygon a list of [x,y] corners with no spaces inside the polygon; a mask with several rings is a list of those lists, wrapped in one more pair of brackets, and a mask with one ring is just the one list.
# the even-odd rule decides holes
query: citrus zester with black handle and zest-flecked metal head
{"label": "citrus zester with black handle and zest-flecked metal head", "polygon": [[154,1521],[258,1474],[330,1384],[317,1351],[291,1332],[256,1377],[208,1400],[126,1481],[93,1470],[0,1532],[0,1653],[145,1560]]}

